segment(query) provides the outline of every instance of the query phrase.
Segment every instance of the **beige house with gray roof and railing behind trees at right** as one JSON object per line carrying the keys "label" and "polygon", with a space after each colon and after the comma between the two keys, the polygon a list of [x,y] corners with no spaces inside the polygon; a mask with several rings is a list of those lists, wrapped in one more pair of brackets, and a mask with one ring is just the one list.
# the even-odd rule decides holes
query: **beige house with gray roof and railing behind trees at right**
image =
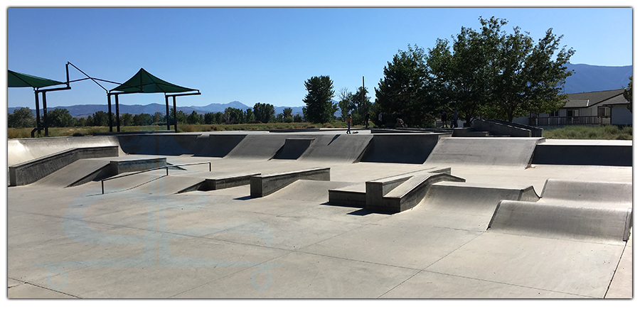
{"label": "beige house with gray roof and railing behind trees at right", "polygon": [[629,101],[624,89],[567,94],[567,103],[556,112],[532,114],[516,122],[530,126],[567,126],[573,124],[632,124]]}

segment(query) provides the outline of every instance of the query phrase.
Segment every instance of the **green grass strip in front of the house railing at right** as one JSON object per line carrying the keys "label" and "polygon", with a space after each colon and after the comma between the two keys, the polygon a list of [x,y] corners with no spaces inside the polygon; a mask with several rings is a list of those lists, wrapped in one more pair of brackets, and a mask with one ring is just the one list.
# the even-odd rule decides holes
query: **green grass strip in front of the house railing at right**
{"label": "green grass strip in front of the house railing at right", "polygon": [[543,136],[547,139],[633,139],[631,126],[563,126],[545,129]]}

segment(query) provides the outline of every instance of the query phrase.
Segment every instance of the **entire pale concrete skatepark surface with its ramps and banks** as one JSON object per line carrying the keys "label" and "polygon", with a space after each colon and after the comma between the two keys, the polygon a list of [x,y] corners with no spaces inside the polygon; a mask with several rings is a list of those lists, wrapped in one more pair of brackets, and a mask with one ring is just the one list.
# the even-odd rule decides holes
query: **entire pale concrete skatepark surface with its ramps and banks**
{"label": "entire pale concrete skatepark surface with its ramps and banks", "polygon": [[[119,155],[7,188],[7,297],[633,297],[632,166],[533,160],[545,143],[627,153],[631,141],[352,131],[9,140],[9,166],[68,148]],[[145,172],[149,159],[170,168]],[[312,168],[330,180],[297,173]],[[464,182],[415,185],[428,169]],[[251,197],[258,173],[291,180]],[[417,204],[329,202],[373,194],[373,180]]]}

